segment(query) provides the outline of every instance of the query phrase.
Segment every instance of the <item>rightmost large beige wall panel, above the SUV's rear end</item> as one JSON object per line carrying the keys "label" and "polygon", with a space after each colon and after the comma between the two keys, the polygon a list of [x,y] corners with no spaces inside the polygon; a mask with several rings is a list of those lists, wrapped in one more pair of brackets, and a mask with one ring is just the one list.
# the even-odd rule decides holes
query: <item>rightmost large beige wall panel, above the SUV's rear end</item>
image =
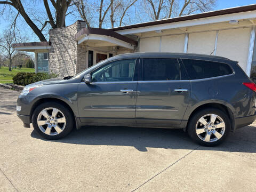
{"label": "rightmost large beige wall panel, above the SUV's rear end", "polygon": [[250,36],[251,27],[220,30],[216,54],[239,61],[239,65],[246,71]]}

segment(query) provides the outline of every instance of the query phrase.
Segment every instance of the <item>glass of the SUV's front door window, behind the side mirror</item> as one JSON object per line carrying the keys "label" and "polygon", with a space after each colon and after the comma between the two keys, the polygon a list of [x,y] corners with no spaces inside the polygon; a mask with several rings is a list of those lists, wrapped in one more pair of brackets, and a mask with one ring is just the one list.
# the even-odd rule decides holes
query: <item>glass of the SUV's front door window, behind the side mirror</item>
{"label": "glass of the SUV's front door window, behind the side mirror", "polygon": [[136,59],[108,63],[92,72],[92,82],[133,81]]}

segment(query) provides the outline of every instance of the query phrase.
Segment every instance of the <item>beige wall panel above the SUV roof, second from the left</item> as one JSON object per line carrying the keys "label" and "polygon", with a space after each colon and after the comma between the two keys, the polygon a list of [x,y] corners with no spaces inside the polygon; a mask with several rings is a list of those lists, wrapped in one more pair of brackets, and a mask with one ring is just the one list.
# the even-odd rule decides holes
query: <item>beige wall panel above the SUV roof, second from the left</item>
{"label": "beige wall panel above the SUV roof, second from the left", "polygon": [[161,52],[177,52],[184,51],[185,35],[163,36],[161,41]]}

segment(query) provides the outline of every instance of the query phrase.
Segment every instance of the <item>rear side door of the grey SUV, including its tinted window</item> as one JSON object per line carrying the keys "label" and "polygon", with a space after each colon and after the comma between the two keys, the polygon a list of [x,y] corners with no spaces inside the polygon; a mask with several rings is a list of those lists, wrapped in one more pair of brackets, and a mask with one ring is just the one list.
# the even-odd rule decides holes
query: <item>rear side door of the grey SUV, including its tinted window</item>
{"label": "rear side door of the grey SUV, including its tinted window", "polygon": [[137,124],[181,123],[190,98],[189,80],[177,59],[143,58],[136,105]]}

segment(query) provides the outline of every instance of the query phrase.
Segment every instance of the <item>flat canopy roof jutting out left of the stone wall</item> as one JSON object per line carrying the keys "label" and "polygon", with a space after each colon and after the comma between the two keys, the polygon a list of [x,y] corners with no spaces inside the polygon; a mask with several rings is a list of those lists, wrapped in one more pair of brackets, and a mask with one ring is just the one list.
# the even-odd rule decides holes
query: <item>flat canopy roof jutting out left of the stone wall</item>
{"label": "flat canopy roof jutting out left of the stone wall", "polygon": [[51,49],[51,42],[29,42],[29,43],[14,43],[13,48],[18,51],[46,51]]}

